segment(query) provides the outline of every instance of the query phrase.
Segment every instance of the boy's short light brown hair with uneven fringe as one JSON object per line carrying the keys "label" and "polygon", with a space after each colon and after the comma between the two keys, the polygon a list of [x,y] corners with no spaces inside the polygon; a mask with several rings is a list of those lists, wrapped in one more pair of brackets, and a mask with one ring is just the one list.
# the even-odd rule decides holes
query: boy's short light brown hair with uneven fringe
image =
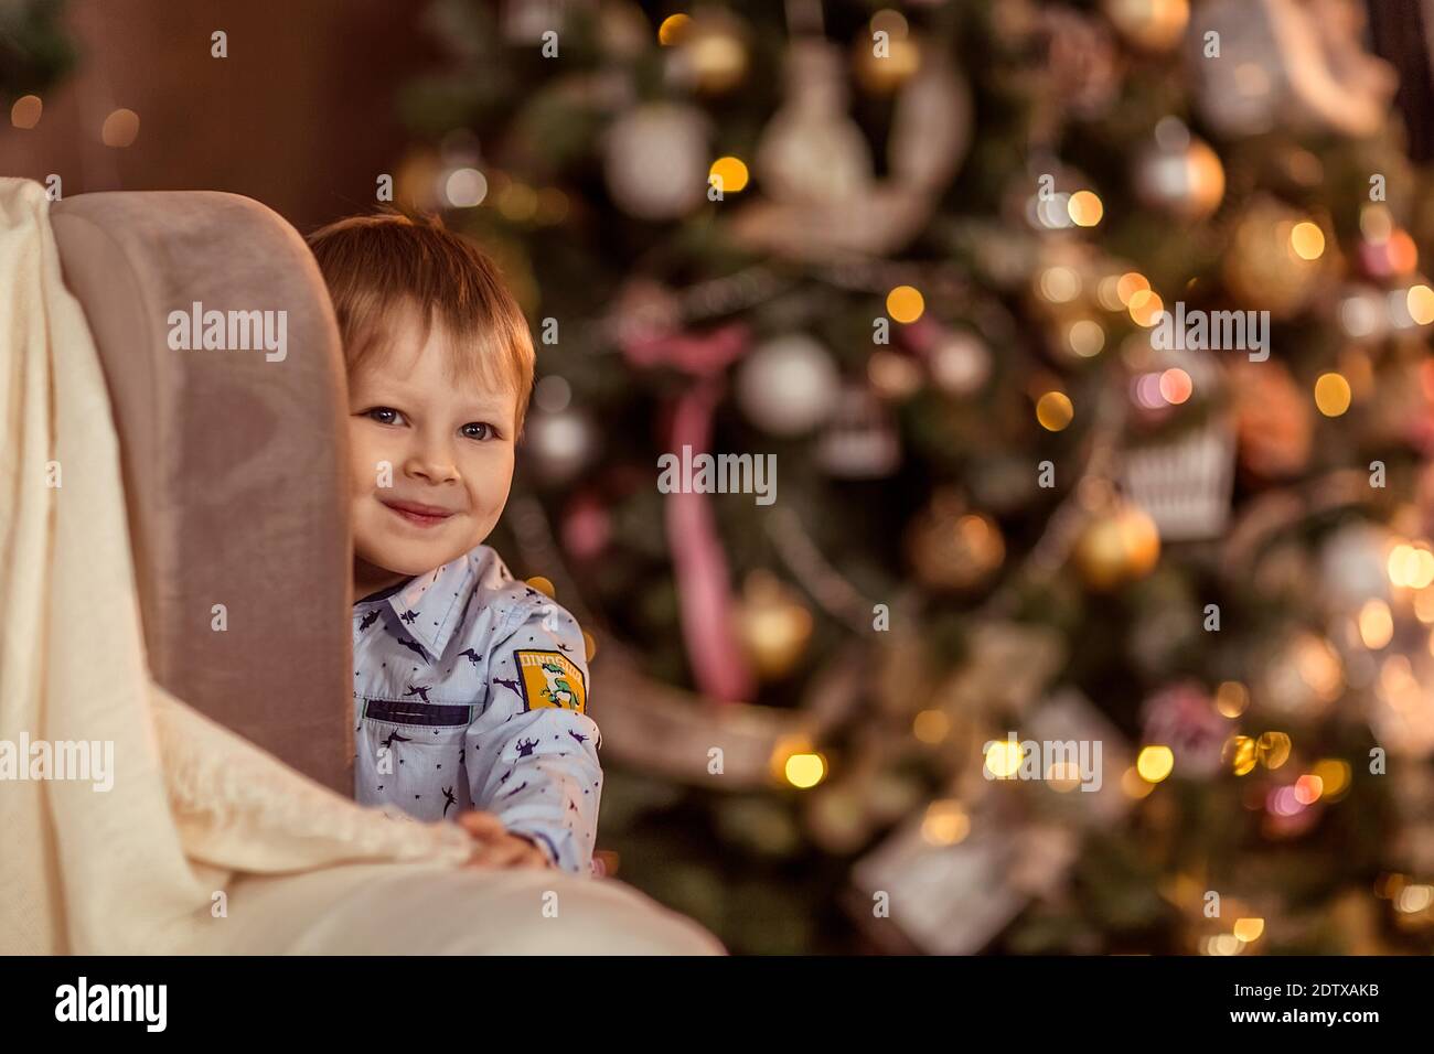
{"label": "boy's short light brown hair with uneven fringe", "polygon": [[381,348],[404,310],[424,340],[435,320],[447,337],[447,376],[518,391],[513,439],[533,381],[533,343],[498,267],[433,218],[399,212],[348,217],[314,231],[308,248],[328,285],[353,374]]}

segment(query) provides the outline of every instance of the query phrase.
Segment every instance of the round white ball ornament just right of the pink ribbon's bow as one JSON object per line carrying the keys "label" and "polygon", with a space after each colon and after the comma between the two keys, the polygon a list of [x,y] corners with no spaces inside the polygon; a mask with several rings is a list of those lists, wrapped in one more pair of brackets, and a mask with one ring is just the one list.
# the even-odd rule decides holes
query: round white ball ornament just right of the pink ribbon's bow
{"label": "round white ball ornament just right of the pink ribbon's bow", "polygon": [[763,341],[737,369],[737,404],[773,436],[800,436],[827,422],[840,390],[830,353],[804,333]]}

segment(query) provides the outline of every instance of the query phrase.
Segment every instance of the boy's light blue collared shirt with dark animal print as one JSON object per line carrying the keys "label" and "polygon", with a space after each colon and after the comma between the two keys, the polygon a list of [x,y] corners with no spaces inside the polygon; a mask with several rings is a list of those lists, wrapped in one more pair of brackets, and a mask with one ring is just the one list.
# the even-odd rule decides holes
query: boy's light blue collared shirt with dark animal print
{"label": "boy's light blue collared shirt with dark animal print", "polygon": [[354,796],[390,816],[495,813],[592,872],[602,736],[578,621],[479,545],[354,604]]}

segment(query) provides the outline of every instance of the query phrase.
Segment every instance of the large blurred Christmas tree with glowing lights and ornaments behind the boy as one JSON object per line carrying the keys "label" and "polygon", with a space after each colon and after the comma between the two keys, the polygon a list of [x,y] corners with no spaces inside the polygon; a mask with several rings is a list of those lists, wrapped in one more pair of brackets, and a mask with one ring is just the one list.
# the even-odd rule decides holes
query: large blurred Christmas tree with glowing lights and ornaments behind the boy
{"label": "large blurred Christmas tree with glowing lights and ornaments behind the boy", "polygon": [[609,869],[737,951],[1431,946],[1434,196],[1359,9],[429,20],[397,201],[541,341],[495,543],[594,634]]}

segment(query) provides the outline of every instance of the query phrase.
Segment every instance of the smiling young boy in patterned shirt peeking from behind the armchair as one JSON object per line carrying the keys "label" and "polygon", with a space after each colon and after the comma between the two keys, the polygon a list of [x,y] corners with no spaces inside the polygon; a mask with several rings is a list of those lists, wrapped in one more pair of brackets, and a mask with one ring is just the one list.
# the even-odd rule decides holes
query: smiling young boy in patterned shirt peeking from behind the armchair
{"label": "smiling young boy in patterned shirt peeking from behind the armchair", "polygon": [[356,797],[459,820],[478,863],[591,873],[584,638],[482,545],[528,409],[528,324],[493,264],[435,222],[356,217],[308,244],[348,371]]}

